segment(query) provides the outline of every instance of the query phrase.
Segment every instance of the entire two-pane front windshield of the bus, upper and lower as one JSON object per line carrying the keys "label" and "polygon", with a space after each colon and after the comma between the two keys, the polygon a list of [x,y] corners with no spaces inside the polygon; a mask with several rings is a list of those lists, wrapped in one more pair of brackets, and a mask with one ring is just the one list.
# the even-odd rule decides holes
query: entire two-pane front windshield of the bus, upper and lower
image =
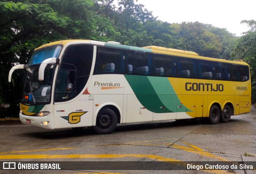
{"label": "entire two-pane front windshield of the bus, upper and lower", "polygon": [[44,80],[38,80],[38,71],[40,63],[48,58],[58,58],[60,45],[46,47],[34,51],[30,61],[28,62],[28,68],[24,79],[24,87],[22,93],[23,104],[36,105],[40,103],[50,102],[51,88],[54,77],[54,70],[56,65],[47,65],[44,70]]}

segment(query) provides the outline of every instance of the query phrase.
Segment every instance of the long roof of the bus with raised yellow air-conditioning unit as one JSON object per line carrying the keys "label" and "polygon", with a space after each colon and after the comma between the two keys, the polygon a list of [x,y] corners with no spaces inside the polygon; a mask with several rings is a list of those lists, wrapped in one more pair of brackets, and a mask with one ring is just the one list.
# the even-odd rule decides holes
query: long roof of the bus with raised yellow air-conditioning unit
{"label": "long roof of the bus with raised yellow air-conditioning unit", "polygon": [[217,58],[210,58],[210,57],[202,57],[199,56],[197,53],[192,51],[184,51],[179,49],[171,49],[171,48],[165,48],[165,47],[158,47],[158,46],[147,46],[147,47],[133,47],[128,45],[120,45],[117,42],[101,42],[101,41],[92,41],[92,40],[83,40],[83,39],[70,39],[70,40],[62,40],[62,41],[54,41],[47,44],[44,44],[37,49],[41,49],[43,47],[47,47],[50,45],[66,45],[67,43],[74,42],[74,44],[79,43],[88,43],[92,45],[101,45],[106,47],[114,47],[118,49],[127,49],[127,50],[133,50],[133,51],[143,51],[148,53],[159,53],[163,55],[173,55],[178,57],[189,57],[194,59],[203,59],[208,61],[218,61],[223,63],[234,63],[234,64],[240,64],[240,65],[248,65],[247,63],[243,62],[242,60],[235,60],[235,61],[229,61],[225,59],[217,59]]}

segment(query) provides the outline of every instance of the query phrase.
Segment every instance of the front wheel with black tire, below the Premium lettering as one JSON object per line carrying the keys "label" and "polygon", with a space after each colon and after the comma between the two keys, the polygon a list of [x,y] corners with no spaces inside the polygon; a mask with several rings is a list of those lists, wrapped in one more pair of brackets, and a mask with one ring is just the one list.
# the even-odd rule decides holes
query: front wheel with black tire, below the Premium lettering
{"label": "front wheel with black tire, below the Premium lettering", "polygon": [[96,126],[92,130],[97,134],[110,134],[117,125],[116,113],[110,108],[103,108],[99,111],[96,118]]}

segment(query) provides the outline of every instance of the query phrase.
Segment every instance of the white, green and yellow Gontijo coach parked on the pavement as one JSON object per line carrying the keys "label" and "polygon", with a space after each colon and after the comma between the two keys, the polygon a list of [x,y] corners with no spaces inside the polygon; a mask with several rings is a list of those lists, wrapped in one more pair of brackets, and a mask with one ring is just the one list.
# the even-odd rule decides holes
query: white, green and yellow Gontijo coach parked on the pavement
{"label": "white, green and yellow Gontijo coach parked on the pavement", "polygon": [[34,50],[27,65],[20,121],[46,129],[179,119],[230,121],[250,112],[249,65],[157,46],[55,41]]}

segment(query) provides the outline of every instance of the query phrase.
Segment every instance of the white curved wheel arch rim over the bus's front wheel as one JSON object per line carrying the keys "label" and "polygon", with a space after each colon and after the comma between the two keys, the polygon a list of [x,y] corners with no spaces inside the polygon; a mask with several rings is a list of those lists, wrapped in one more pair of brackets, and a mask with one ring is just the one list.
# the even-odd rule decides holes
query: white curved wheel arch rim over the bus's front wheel
{"label": "white curved wheel arch rim over the bus's front wheel", "polygon": [[93,118],[92,118],[92,126],[95,126],[96,125],[96,118],[97,118],[97,115],[99,113],[99,111],[103,108],[110,108],[112,109],[115,113],[116,113],[116,116],[117,116],[117,123],[120,123],[121,122],[121,115],[122,115],[122,110],[120,109],[120,107],[114,103],[111,103],[111,102],[108,102],[108,103],[104,103],[104,104],[101,104],[100,106],[98,106],[98,108],[96,109],[96,111],[94,112],[94,115],[93,115]]}

